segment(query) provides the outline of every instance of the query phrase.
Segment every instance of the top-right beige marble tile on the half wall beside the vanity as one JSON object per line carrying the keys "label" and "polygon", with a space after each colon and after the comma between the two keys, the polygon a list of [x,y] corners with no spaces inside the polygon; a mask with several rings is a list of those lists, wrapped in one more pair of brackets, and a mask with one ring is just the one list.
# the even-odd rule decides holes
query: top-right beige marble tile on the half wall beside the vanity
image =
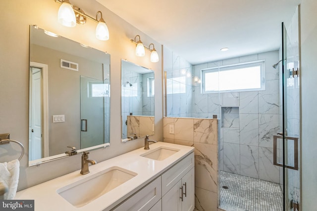
{"label": "top-right beige marble tile on the half wall beside the vanity", "polygon": [[217,144],[218,121],[211,119],[194,119],[194,141]]}

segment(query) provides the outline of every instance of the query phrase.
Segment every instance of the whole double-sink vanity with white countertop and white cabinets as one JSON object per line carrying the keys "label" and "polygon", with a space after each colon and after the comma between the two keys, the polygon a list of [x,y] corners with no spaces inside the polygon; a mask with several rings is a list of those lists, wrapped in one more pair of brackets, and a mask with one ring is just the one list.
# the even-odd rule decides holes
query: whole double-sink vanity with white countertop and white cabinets
{"label": "whole double-sink vanity with white countertop and white cabinets", "polygon": [[194,148],[164,142],[17,192],[36,211],[194,209]]}

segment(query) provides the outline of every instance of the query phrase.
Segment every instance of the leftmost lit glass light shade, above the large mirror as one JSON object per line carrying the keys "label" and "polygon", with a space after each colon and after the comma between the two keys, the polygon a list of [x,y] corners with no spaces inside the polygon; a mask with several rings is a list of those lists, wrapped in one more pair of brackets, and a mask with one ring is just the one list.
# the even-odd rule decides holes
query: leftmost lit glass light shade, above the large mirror
{"label": "leftmost lit glass light shade, above the large mirror", "polygon": [[67,27],[76,26],[76,16],[73,7],[68,2],[63,2],[57,13],[58,22]]}

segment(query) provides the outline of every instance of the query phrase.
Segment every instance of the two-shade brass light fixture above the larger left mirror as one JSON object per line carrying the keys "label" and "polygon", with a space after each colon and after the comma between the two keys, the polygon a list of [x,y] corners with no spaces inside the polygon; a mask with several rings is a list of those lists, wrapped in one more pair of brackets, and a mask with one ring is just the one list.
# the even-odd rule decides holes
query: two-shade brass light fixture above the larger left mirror
{"label": "two-shade brass light fixture above the larger left mirror", "polygon": [[[96,18],[93,18],[89,15],[86,15],[82,9],[76,6],[73,6],[69,2],[69,0],[54,0],[54,1],[61,3],[57,13],[57,19],[61,25],[66,27],[74,27],[76,26],[76,23],[85,24],[87,21],[87,18],[89,18],[95,21],[96,23],[98,23],[96,27],[96,38],[102,41],[109,40],[109,31],[106,26],[106,22],[103,19],[103,13],[101,11],[98,11],[96,14]],[[100,14],[99,20],[98,20],[98,14]]]}

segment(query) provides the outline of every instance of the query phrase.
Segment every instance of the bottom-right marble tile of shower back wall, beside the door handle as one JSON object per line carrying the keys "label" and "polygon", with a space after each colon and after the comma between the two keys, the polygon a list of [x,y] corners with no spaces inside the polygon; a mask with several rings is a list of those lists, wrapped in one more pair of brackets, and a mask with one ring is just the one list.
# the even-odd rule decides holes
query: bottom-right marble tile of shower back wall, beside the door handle
{"label": "bottom-right marble tile of shower back wall, beside the door handle", "polygon": [[259,147],[259,178],[279,183],[279,168],[273,165],[273,148]]}

